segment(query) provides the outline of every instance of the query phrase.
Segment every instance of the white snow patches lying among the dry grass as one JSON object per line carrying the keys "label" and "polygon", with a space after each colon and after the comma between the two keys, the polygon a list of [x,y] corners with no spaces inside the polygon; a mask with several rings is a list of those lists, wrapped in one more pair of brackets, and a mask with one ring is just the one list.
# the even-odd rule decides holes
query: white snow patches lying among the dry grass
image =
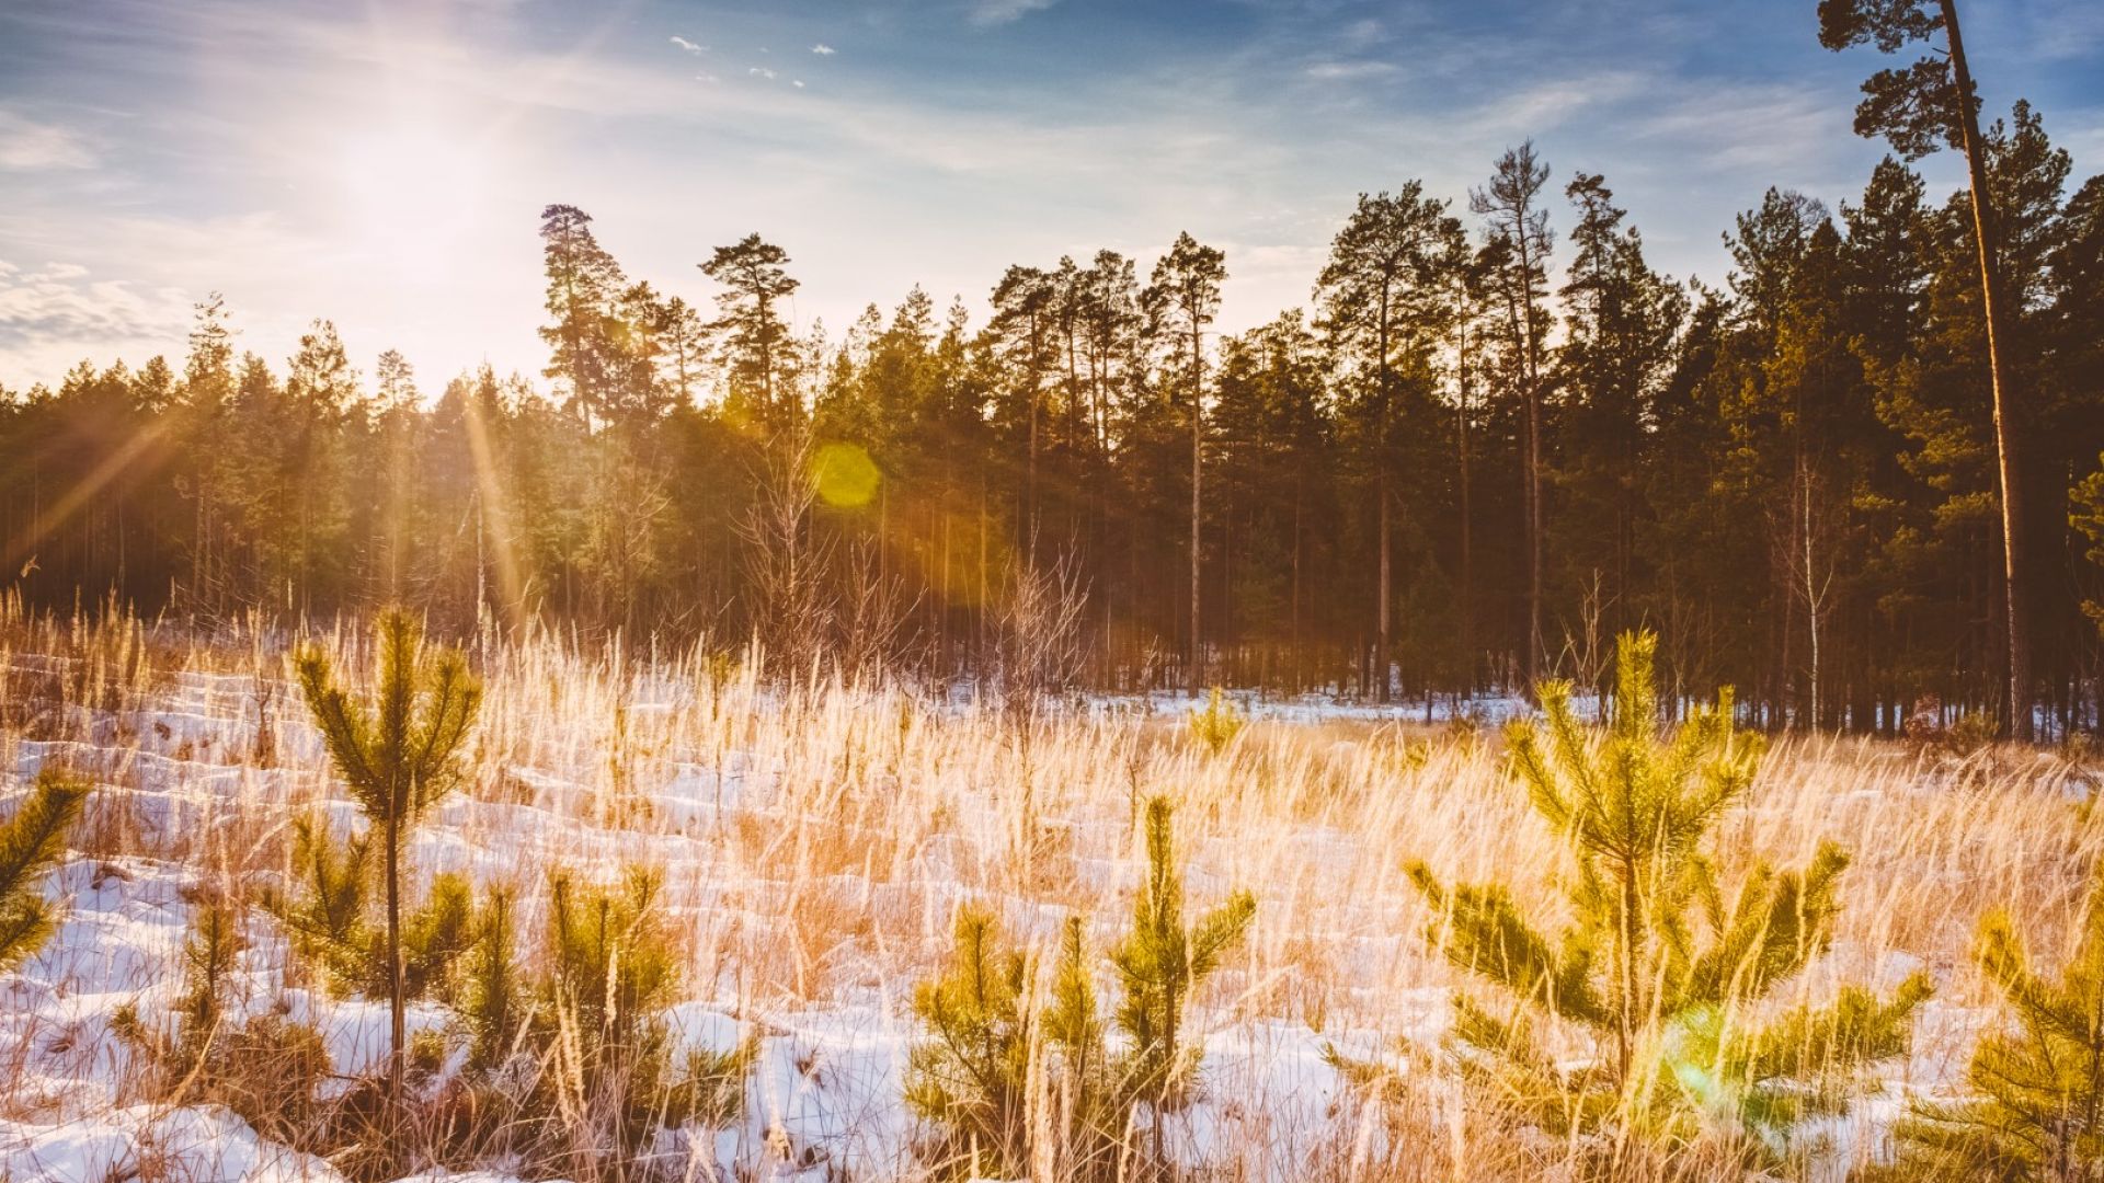
{"label": "white snow patches lying among the dry grass", "polygon": [[[15,661],[23,661],[15,657]],[[644,720],[673,709],[677,686],[644,686],[648,701],[629,705]],[[1435,722],[1456,718],[1454,703],[1391,707],[1326,699],[1262,699],[1231,695],[1252,720],[1279,724]],[[126,716],[99,714],[88,741],[15,739],[13,789],[19,794],[46,762],[88,770],[103,785],[95,808],[118,817],[133,850],[185,850],[185,857],[139,853],[74,857],[46,890],[69,905],[55,941],[19,973],[0,975],[0,1063],[13,1065],[13,1105],[0,1116],[0,1179],[103,1183],[166,1170],[179,1179],[341,1179],[326,1162],[261,1139],[238,1116],[217,1105],[156,1107],[139,1095],[137,1052],[114,1031],[114,1017],[130,1006],[141,1017],[162,1015],[181,991],[183,943],[191,922],[191,895],[206,859],[196,855],[229,838],[238,821],[282,829],[292,802],[324,791],[316,735],[290,718],[286,690],[276,701],[278,766],[255,768],[255,682],[250,678],[179,674],[166,690]],[[1086,709],[1096,716],[1166,716],[1180,720],[1203,709],[1203,697],[1102,697]],[[1523,716],[1517,697],[1477,699],[1460,714],[1477,722]],[[120,737],[128,737],[120,743]],[[1342,743],[1342,741],[1340,741]],[[137,745],[137,749],[128,749]],[[501,791],[459,796],[427,819],[410,844],[414,874],[463,871],[482,882],[530,888],[534,876],[558,863],[652,863],[667,869],[667,893],[696,933],[783,924],[783,916],[732,907],[711,895],[711,876],[726,859],[726,831],[739,823],[787,825],[793,815],[781,798],[783,768],[745,751],[673,754],[654,777],[640,783],[648,829],[608,829],[587,819],[600,808],[593,756],[532,751],[530,760],[497,773]],[[4,804],[0,804],[4,808]],[[1124,808],[1119,804],[1119,808]],[[341,789],[324,802],[332,827],[360,827]],[[850,867],[818,876],[825,890],[861,914],[917,914],[922,935],[938,933],[949,907],[968,888],[959,867],[999,850],[1002,842],[974,844],[974,825],[993,825],[970,813],[957,834],[930,836],[913,853],[926,884],[909,890],[882,882],[871,869]],[[1132,867],[1102,857],[1115,825],[1096,817],[1050,819],[1067,842],[1075,874],[1124,890]],[[242,840],[257,840],[242,836]],[[1332,827],[1307,825],[1288,842],[1296,861],[1321,865],[1357,842]],[[976,846],[976,848],[974,848]],[[1231,886],[1225,859],[1203,859],[1191,869],[1191,890],[1214,897]],[[534,893],[522,907],[534,907]],[[1063,920],[1060,907],[1002,897],[1004,922],[1018,935],[1048,935]],[[1302,916],[1365,928],[1365,914],[1338,901],[1336,916]],[[387,1008],[358,998],[328,998],[288,964],[286,943],[261,914],[248,916],[248,949],[234,983],[242,1015],[278,1012],[313,1025],[328,1050],[330,1092],[351,1088],[353,1076],[383,1067]],[[1100,933],[1092,935],[1100,941]],[[1347,981],[1378,975],[1410,943],[1391,926],[1344,945],[1334,970]],[[844,985],[808,1006],[772,1006],[757,1012],[734,975],[703,981],[690,975],[692,998],[671,1006],[665,1021],[680,1050],[732,1052],[757,1040],[757,1061],[747,1082],[745,1111],[724,1130],[675,1130],[659,1151],[684,1160],[699,1156],[724,1179],[905,1175],[922,1132],[903,1101],[909,1050],[917,1038],[911,1021],[911,979],[896,975],[894,956],[877,956],[871,941],[844,935],[823,951]],[[1887,966],[1894,981],[1908,964]],[[1304,1021],[1279,1017],[1206,1015],[1203,1088],[1168,1116],[1170,1154],[1185,1166],[1243,1179],[1298,1179],[1311,1154],[1336,1145],[1338,1122],[1351,1122],[1344,1084],[1326,1059],[1332,1044],[1359,1059],[1393,1059],[1395,1038],[1435,1044],[1448,1027],[1445,987],[1384,991],[1378,998],[1382,1031],[1319,1034]],[[1978,1017],[1931,1002],[1927,1027],[1963,1029]],[[414,1004],[410,1031],[446,1034],[452,1019],[436,1004]],[[682,1057],[684,1059],[684,1057]],[[459,1059],[454,1057],[454,1065]],[[1948,1076],[1894,1082],[1896,1088],[1946,1086]],[[1891,1095],[1891,1092],[1889,1092]],[[1887,1097],[1889,1097],[1887,1095]],[[1896,1101],[1860,1118],[1883,1128]],[[1347,1130],[1349,1132],[1349,1130]],[[1222,1162],[1239,1156],[1233,1162]],[[511,1183],[509,1175],[429,1172],[429,1183]]]}

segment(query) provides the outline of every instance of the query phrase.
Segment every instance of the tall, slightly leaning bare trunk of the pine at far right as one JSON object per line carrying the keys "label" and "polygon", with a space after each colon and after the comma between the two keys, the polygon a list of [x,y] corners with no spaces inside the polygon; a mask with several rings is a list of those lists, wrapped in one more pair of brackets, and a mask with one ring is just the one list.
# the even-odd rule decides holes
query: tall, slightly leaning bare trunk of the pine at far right
{"label": "tall, slightly leaning bare trunk of the pine at far right", "polygon": [[1974,246],[1980,253],[1980,307],[1986,314],[1986,368],[1995,387],[1995,453],[2001,482],[2001,568],[2009,608],[2009,718],[2003,726],[2018,739],[2032,737],[2030,720],[2030,629],[2026,613],[2028,579],[2024,575],[2024,507],[2018,469],[2016,423],[2009,406],[2009,373],[2001,364],[2003,330],[2001,267],[1995,261],[1992,196],[1986,189],[1986,152],[1980,143],[1980,114],[1974,112],[1971,72],[1965,65],[1965,38],[1959,36],[1957,0],[1942,0],[1944,38],[1950,44],[1950,69],[1957,74],[1959,133],[1965,147],[1965,171],[1971,183]]}

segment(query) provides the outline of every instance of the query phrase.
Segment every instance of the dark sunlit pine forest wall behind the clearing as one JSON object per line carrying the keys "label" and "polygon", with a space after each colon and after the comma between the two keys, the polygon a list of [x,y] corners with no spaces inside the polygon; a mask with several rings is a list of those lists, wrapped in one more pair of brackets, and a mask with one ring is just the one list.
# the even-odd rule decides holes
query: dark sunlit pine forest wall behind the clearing
{"label": "dark sunlit pine forest wall behind the clearing", "polygon": [[[1881,36],[1845,17],[1830,44]],[[179,366],[6,392],[6,573],[46,606],[406,602],[943,680],[1018,676],[1056,627],[1058,682],[1378,701],[1597,686],[1656,627],[1675,699],[1736,684],[1767,724],[2024,728],[2014,695],[2093,726],[2104,177],[2070,185],[2026,103],[1887,126],[1908,78],[1860,114],[1900,156],[1837,210],[1769,189],[1721,286],[1519,145],[1460,200],[1361,194],[1309,307],[1246,333],[1189,234],[833,337],[757,234],[688,301],[553,204],[541,375],[427,398],[326,320],[274,368],[213,297]],[[1904,160],[1944,139],[1978,208]]]}

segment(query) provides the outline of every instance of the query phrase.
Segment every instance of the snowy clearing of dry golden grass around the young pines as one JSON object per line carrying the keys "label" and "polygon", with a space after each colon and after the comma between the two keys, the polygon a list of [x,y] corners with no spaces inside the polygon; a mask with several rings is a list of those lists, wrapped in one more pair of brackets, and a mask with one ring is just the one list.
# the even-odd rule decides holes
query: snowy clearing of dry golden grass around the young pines
{"label": "snowy clearing of dry golden grass around the young pines", "polygon": [[[1050,1004],[1069,918],[1098,954],[1130,924],[1157,796],[1174,802],[1191,916],[1246,890],[1254,920],[1189,1000],[1185,1038],[1201,1061],[1189,1099],[1164,1114],[1166,1162],[1151,1162],[1151,1135],[1128,1139],[1126,1162],[1092,1162],[1067,1078],[1039,1048],[1014,1099],[1033,1177],[1172,1166],[1304,1179],[1315,1164],[1323,1179],[1540,1179],[1576,1170],[1591,1145],[1528,1130],[1521,1111],[1441,1067],[1452,994],[1496,994],[1431,943],[1439,909],[1408,865],[1500,880],[1544,928],[1572,920],[1567,848],[1490,728],[1243,724],[1233,699],[1016,714],[837,680],[766,688],[751,665],[701,650],[551,636],[478,650],[484,699],[463,783],[408,838],[406,895],[465,876],[480,914],[503,888],[515,1004],[562,1010],[560,994],[537,1000],[526,985],[555,956],[551,884],[589,876],[619,899],[623,876],[648,869],[648,920],[631,918],[623,939],[648,933],[665,964],[625,1021],[663,1040],[665,1063],[627,1076],[598,1065],[608,1076],[593,1088],[528,1118],[528,1099],[562,1092],[549,1078],[579,1052],[560,1027],[543,1042],[532,1021],[513,1036],[520,1059],[478,1050],[469,949],[408,1004],[410,1101],[385,1124],[372,1109],[389,1059],[385,991],[332,983],[282,903],[313,876],[299,827],[341,844],[360,810],[282,644],[166,636],[19,613],[6,625],[0,756],[15,796],[46,768],[93,785],[44,886],[61,907],[55,935],[4,985],[8,1177],[949,1175],[959,1143],[915,1105],[913,1048],[930,1040],[915,991],[955,956],[953,916],[985,909],[1020,954],[1025,1006]],[[372,659],[358,631],[322,640],[345,661]],[[2089,810],[2098,762],[2079,747],[1974,743],[1778,739],[1704,840],[1727,890],[1757,861],[1795,867],[1822,842],[1847,848],[1830,947],[1763,1008],[1824,1004],[1843,983],[1934,983],[1904,1050],[1854,1074],[1835,1114],[1791,1126],[1784,1158],[1807,1177],[1889,1156],[1913,1099],[1963,1090],[1976,1038],[2007,1023],[1971,958],[1982,916],[2007,909],[2054,962],[2081,937],[2104,844]],[[217,1038],[269,1050],[168,1071],[156,1057],[198,1012],[183,996],[200,983],[208,922],[234,935],[213,970]],[[1092,977],[1119,996],[1115,975]],[[1563,1055],[1589,1055],[1582,1034],[1561,1038]],[[307,1059],[286,1050],[309,1044]],[[709,1065],[715,1092],[682,1114],[688,1063]],[[1149,1116],[1132,1122],[1149,1128]],[[1620,1170],[1738,1177],[1692,1160],[1702,1145],[1628,1149]]]}

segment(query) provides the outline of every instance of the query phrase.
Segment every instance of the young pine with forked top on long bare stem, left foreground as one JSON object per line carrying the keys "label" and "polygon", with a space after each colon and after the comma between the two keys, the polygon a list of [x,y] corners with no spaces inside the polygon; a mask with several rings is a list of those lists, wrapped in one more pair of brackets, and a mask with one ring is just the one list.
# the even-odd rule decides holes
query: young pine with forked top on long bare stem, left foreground
{"label": "young pine with forked top on long bare stem, left foreground", "polygon": [[370,705],[337,682],[328,655],[299,655],[299,688],[337,775],[381,840],[387,893],[389,1090],[402,1095],[406,983],[402,975],[402,846],[408,829],[461,783],[457,756],[482,705],[482,682],[454,648],[427,653],[423,629],[389,608],[375,625],[379,684]]}

